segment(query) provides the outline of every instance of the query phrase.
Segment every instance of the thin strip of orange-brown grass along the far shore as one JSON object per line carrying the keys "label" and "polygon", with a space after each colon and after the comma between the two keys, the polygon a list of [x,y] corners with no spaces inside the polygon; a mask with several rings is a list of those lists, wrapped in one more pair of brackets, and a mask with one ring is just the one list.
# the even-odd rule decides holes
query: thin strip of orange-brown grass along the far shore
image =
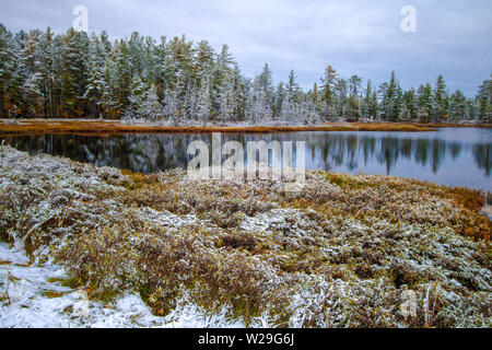
{"label": "thin strip of orange-brown grass along the far shore", "polygon": [[1,119],[0,135],[118,135],[118,133],[272,133],[293,131],[435,131],[437,128],[492,128],[492,124],[326,122],[320,125],[160,125],[124,124],[108,119]]}

